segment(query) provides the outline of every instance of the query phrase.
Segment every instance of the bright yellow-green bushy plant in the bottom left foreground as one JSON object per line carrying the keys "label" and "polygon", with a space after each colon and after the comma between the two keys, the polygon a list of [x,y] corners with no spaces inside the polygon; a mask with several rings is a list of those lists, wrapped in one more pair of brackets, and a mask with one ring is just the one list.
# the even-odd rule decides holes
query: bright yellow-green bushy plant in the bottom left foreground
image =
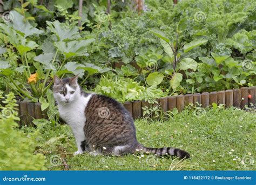
{"label": "bright yellow-green bushy plant in the bottom left foreground", "polygon": [[5,106],[0,105],[0,169],[1,170],[45,170],[45,157],[33,154],[37,146],[38,132],[23,133],[18,129],[19,120],[14,93],[4,98],[2,91],[0,99]]}

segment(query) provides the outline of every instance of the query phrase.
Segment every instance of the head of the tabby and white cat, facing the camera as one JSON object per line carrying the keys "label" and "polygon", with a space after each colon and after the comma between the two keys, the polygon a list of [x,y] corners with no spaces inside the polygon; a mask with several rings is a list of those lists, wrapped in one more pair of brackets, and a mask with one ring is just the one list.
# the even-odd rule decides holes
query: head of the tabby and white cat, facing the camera
{"label": "head of the tabby and white cat, facing the camera", "polygon": [[60,79],[53,77],[53,94],[58,104],[69,104],[76,100],[80,95],[80,87],[77,83],[77,77]]}

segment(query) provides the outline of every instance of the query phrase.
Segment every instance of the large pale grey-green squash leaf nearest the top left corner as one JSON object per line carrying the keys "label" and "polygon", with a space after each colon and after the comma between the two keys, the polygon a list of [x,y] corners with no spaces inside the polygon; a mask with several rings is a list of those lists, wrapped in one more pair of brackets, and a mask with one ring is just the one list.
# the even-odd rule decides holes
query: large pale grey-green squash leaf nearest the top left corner
{"label": "large pale grey-green squash leaf nearest the top left corner", "polygon": [[12,10],[10,14],[14,17],[8,24],[11,25],[15,30],[24,33],[25,37],[43,33],[42,30],[38,30],[37,28],[33,27],[28,20],[24,21],[24,16],[19,14],[17,11]]}

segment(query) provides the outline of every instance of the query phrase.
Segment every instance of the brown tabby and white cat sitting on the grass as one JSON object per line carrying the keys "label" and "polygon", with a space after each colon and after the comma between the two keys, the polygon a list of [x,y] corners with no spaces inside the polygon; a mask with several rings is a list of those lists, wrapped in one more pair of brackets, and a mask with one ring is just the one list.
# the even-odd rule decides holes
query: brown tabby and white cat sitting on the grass
{"label": "brown tabby and white cat sitting on the grass", "polygon": [[77,83],[78,76],[53,77],[53,94],[60,117],[76,138],[77,152],[92,155],[125,155],[140,151],[157,156],[174,155],[189,158],[185,150],[173,147],[149,148],[136,139],[136,128],[126,108],[118,101],[95,93],[85,93]]}

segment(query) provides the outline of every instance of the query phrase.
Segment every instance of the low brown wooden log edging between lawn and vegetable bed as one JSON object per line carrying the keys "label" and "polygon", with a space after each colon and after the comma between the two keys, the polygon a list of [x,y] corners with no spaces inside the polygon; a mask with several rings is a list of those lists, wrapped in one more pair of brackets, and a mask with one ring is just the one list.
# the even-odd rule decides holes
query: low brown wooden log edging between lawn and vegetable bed
{"label": "low brown wooden log edging between lawn and vegetable bed", "polygon": [[[234,90],[218,91],[218,92],[203,92],[196,94],[186,94],[186,95],[174,95],[171,97],[159,98],[156,100],[159,102],[159,107],[163,112],[172,111],[172,109],[177,108],[179,112],[191,104],[201,107],[212,106],[215,104],[224,104],[225,107],[239,107],[245,108],[256,106],[256,86],[254,87],[241,87]],[[143,117],[143,107],[157,106],[157,104],[150,105],[147,101],[133,101],[125,102],[124,107],[130,112],[133,119],[138,119]],[[21,121],[20,125],[33,125],[33,119],[47,119],[46,111],[41,111],[41,104],[36,102],[18,102],[16,107],[18,109],[18,115]]]}

